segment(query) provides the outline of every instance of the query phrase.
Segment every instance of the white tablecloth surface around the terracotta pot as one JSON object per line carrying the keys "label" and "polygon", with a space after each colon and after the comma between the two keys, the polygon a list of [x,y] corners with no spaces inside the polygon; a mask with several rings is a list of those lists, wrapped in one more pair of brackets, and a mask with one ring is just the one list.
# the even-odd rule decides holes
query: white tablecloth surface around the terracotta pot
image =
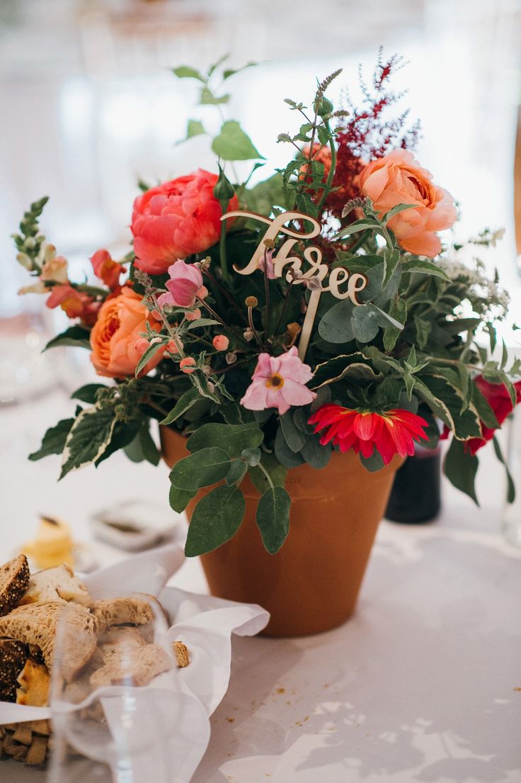
{"label": "white tablecloth surface around the terracotta pot", "polygon": [[[107,503],[167,505],[163,467],[117,454],[56,483],[57,457],[26,460],[71,405],[56,391],[0,410],[2,561],[34,535],[38,511],[92,541],[88,515]],[[521,781],[521,552],[501,536],[502,478],[488,459],[480,510],[445,484],[436,523],[380,525],[344,626],[302,639],[234,639],[230,686],[193,783]],[[92,547],[102,564],[124,557]],[[196,560],[172,583],[207,590]],[[44,775],[4,760],[0,779]]]}

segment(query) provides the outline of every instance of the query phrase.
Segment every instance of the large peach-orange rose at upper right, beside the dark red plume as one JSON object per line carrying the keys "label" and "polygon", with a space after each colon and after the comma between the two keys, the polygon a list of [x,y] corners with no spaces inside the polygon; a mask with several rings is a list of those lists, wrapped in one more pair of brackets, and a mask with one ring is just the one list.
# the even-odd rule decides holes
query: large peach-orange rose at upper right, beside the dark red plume
{"label": "large peach-orange rose at upper right, beside the dark red plume", "polygon": [[441,250],[435,232],[450,228],[456,219],[451,194],[433,185],[432,179],[406,150],[393,150],[372,161],[359,179],[361,192],[372,200],[380,217],[397,204],[415,204],[394,215],[388,225],[404,250],[428,258]]}

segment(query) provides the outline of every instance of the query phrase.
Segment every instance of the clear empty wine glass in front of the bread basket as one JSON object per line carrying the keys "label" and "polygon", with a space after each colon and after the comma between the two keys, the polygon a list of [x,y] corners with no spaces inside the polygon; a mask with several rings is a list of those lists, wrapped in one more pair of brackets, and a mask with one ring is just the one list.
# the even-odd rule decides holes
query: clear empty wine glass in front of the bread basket
{"label": "clear empty wine glass in front of the bread basket", "polygon": [[49,783],[170,783],[181,707],[163,610],[135,594],[93,614],[68,604],[57,624]]}

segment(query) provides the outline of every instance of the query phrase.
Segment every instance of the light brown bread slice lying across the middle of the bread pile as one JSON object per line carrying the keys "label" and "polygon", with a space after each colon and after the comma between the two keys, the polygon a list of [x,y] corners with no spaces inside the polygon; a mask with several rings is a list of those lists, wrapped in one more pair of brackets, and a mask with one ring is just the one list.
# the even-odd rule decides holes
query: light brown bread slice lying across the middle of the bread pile
{"label": "light brown bread slice lying across the middle of the bread pile", "polygon": [[60,666],[65,680],[74,679],[92,658],[96,648],[96,621],[88,609],[62,601],[45,604],[27,604],[0,617],[0,637],[12,637],[24,644],[37,644],[49,669],[56,646],[59,620],[66,613],[62,634],[62,659]]}

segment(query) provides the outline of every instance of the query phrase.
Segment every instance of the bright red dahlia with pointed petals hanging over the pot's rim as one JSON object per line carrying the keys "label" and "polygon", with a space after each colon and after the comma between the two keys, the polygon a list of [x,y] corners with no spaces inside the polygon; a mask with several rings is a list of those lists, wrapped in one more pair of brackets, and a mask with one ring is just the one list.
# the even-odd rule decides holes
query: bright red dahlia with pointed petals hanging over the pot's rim
{"label": "bright red dahlia with pointed petals hanging over the pot's rim", "polygon": [[385,465],[395,454],[414,454],[414,442],[420,438],[428,440],[422,429],[427,426],[426,420],[401,409],[371,413],[328,403],[318,408],[308,423],[315,424],[315,432],[324,430],[322,446],[332,441],[342,452],[353,449],[365,457],[372,456],[376,449]]}

